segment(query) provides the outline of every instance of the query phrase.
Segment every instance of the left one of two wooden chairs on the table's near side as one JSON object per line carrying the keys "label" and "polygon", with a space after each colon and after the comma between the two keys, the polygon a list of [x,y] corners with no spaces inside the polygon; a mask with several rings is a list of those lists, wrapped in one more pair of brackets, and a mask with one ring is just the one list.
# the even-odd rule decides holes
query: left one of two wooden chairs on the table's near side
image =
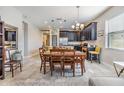
{"label": "left one of two wooden chairs on the table's near side", "polygon": [[55,68],[55,66],[60,66],[60,70],[61,70],[61,76],[62,76],[62,70],[63,70],[63,62],[62,62],[62,57],[63,57],[63,53],[61,51],[61,49],[51,49],[50,50],[50,54],[51,54],[51,76],[53,74],[53,70]]}

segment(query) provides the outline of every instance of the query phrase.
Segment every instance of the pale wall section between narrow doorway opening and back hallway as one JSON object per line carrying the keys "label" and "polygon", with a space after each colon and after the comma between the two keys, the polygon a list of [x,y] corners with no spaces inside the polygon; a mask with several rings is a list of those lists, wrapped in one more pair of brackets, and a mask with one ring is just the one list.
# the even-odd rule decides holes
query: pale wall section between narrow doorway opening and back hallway
{"label": "pale wall section between narrow doorway opening and back hallway", "polygon": [[39,54],[39,47],[42,46],[41,31],[35,27],[33,24],[28,22],[28,53],[29,56]]}

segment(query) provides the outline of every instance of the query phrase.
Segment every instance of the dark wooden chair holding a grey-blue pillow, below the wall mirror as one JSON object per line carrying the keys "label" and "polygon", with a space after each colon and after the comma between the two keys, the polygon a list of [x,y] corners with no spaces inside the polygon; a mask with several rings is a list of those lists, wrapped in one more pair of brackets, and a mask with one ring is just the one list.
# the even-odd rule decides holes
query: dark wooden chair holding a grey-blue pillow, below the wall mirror
{"label": "dark wooden chair holding a grey-blue pillow, below the wall mirror", "polygon": [[[12,77],[14,77],[14,71],[20,68],[20,72],[22,72],[22,58],[17,59],[17,56],[22,56],[21,53],[16,52],[17,50],[9,50],[5,49],[5,62],[4,67],[9,68],[10,72],[12,72]],[[13,53],[12,53],[13,52]],[[13,59],[15,57],[16,59]]]}

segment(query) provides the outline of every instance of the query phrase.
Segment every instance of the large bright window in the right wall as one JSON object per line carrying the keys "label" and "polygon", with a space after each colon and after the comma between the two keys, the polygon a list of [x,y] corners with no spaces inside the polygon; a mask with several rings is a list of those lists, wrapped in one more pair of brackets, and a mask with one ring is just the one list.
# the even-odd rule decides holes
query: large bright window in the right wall
{"label": "large bright window in the right wall", "polygon": [[106,21],[106,47],[124,50],[124,14]]}

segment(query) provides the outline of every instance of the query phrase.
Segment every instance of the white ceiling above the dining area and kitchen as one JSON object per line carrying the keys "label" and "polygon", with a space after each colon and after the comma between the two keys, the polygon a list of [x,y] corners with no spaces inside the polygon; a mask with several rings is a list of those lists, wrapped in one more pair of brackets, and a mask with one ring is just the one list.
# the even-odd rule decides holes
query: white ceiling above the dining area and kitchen
{"label": "white ceiling above the dining area and kitchen", "polygon": [[[40,29],[51,25],[71,28],[77,20],[78,13],[76,6],[16,6],[16,8]],[[85,23],[92,20],[108,8],[108,6],[80,6],[78,21]],[[65,19],[66,22],[60,23],[56,18]]]}

